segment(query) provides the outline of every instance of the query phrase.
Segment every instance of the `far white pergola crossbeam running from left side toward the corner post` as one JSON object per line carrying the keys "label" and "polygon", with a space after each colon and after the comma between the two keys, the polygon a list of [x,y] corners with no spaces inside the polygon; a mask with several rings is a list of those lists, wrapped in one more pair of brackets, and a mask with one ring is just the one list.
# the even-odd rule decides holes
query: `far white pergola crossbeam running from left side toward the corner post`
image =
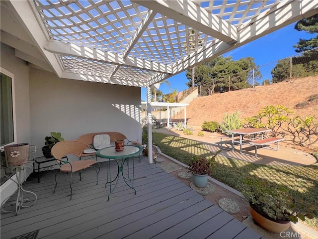
{"label": "far white pergola crossbeam running from left side toward the corner post", "polygon": [[73,43],[65,43],[57,40],[49,40],[45,44],[45,50],[65,56],[74,56],[83,59],[106,62],[114,65],[128,66],[132,68],[146,69],[154,72],[171,73],[171,66],[146,60],[126,57],[99,49],[92,49],[86,46],[78,46]]}

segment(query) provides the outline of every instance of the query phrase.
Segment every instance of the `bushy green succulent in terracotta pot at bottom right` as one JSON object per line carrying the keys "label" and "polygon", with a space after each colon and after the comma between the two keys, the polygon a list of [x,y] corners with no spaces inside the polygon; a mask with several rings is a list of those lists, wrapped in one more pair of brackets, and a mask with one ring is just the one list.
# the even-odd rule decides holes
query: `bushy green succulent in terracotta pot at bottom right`
{"label": "bushy green succulent in terracotta pot at bottom right", "polygon": [[280,233],[305,218],[312,219],[313,205],[304,205],[303,200],[293,198],[288,191],[264,179],[248,176],[239,185],[241,193],[249,202],[253,221],[264,229]]}

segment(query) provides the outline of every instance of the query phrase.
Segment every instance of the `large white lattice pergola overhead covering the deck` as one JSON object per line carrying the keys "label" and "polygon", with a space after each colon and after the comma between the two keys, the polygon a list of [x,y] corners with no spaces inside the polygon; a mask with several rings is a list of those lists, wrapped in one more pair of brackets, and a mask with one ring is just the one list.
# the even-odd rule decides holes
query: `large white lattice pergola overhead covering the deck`
{"label": "large white lattice pergola overhead covering the deck", "polygon": [[0,4],[1,42],[30,66],[60,78],[147,87],[148,104],[154,84],[318,13],[317,0]]}

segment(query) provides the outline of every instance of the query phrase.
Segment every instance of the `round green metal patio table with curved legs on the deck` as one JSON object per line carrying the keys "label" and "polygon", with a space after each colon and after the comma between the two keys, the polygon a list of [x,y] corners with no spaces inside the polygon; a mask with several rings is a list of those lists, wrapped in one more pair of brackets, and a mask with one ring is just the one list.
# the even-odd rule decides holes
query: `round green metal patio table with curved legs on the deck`
{"label": "round green metal patio table with curved legs on the deck", "polygon": [[[118,183],[118,179],[119,179],[119,173],[121,172],[121,175],[124,179],[124,182],[128,185],[128,187],[132,188],[135,191],[136,194],[136,189],[134,188],[134,167],[135,167],[135,160],[133,160],[133,172],[132,172],[132,178],[130,178],[130,170],[129,170],[129,159],[131,157],[134,157],[136,155],[140,155],[142,153],[143,149],[139,146],[135,146],[135,145],[126,145],[123,151],[116,151],[115,150],[115,146],[110,146],[107,148],[102,148],[97,150],[96,155],[98,157],[101,158],[106,158],[108,159],[108,167],[107,167],[107,182],[105,184],[105,187],[107,187],[107,183],[109,183],[109,188],[110,188],[110,193],[108,194],[108,201],[109,201],[109,196],[114,192],[116,185]],[[112,180],[111,179],[111,174],[110,174],[110,160],[114,159],[115,162],[117,163],[117,175],[116,177]],[[119,163],[119,159],[121,160],[121,163]],[[124,176],[124,164],[127,161],[127,167],[128,167],[128,177],[126,178]],[[132,186],[128,184],[128,181],[132,182]],[[116,181],[115,186],[113,187],[113,189],[111,188],[111,183]]]}

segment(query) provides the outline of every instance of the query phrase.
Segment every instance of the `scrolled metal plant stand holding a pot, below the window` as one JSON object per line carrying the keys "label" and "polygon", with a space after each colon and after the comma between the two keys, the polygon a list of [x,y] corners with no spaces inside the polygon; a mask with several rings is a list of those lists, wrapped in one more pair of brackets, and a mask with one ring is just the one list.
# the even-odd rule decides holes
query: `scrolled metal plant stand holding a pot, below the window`
{"label": "scrolled metal plant stand holding a pot, below the window", "polygon": [[[28,165],[32,165],[32,163],[25,163],[25,164],[22,164],[22,165],[19,165],[19,166],[11,166],[11,167],[6,167],[4,169],[4,176],[7,177],[9,180],[12,180],[14,183],[16,183],[17,185],[17,197],[16,197],[16,200],[15,200],[15,208],[11,211],[7,211],[7,210],[4,210],[2,207],[3,205],[6,203],[6,201],[12,196],[9,196],[7,197],[1,204],[1,211],[4,212],[4,213],[10,213],[10,212],[13,212],[15,211],[16,215],[19,214],[20,212],[20,209],[21,208],[28,208],[28,207],[31,207],[32,205],[35,204],[36,200],[37,200],[37,196],[35,193],[31,192],[31,191],[27,191],[25,189],[22,188],[22,183],[23,183],[23,170],[25,169],[26,166]],[[7,174],[6,174],[6,170],[9,169],[9,168],[13,168],[13,170],[15,171],[15,175],[16,175],[16,180],[14,180],[12,177],[9,177]],[[29,203],[29,199],[27,198],[24,198],[24,194],[25,193],[29,193],[29,194],[32,194],[34,196],[34,200],[33,200],[33,203]],[[32,201],[31,201],[32,202]],[[12,205],[14,205],[12,204]]]}

